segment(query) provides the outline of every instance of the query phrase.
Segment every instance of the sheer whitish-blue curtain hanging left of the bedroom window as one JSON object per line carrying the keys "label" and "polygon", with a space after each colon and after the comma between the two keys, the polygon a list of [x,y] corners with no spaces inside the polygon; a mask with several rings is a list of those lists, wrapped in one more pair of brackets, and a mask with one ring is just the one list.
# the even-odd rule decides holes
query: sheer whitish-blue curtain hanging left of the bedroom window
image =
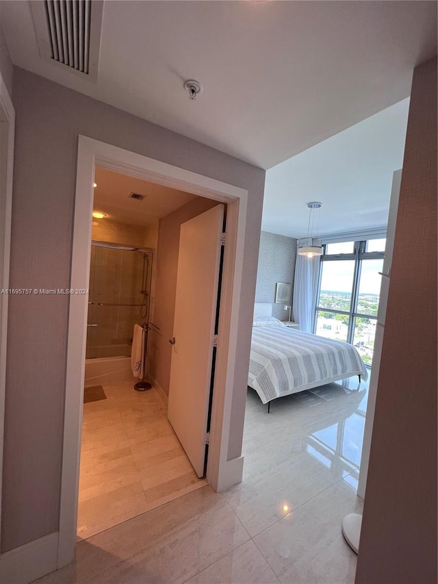
{"label": "sheer whitish-blue curtain hanging left of the bedroom window", "polygon": [[[298,240],[297,249],[303,245],[315,245],[312,238]],[[296,254],[294,277],[294,320],[299,323],[300,331],[311,333],[313,313],[315,312],[316,286],[320,256],[307,257]]]}

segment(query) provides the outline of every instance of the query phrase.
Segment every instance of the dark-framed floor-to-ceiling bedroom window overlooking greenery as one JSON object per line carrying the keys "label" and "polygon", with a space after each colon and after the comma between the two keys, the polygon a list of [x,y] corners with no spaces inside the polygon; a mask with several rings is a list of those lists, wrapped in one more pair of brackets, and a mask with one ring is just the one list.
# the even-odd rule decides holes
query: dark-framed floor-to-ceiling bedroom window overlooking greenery
{"label": "dark-framed floor-to-ceiling bedroom window overlooking greenery", "polygon": [[354,344],[371,365],[385,239],[326,243],[315,307],[317,335]]}

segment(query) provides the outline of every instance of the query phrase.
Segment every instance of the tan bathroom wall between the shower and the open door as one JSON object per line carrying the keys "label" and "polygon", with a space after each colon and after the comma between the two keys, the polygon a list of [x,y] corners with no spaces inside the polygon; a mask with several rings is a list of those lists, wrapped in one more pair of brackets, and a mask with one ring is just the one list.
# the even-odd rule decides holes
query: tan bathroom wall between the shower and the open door
{"label": "tan bathroom wall between the shower and the open door", "polygon": [[151,374],[162,390],[169,394],[170,361],[177,294],[177,271],[179,255],[179,231],[181,223],[217,205],[217,201],[198,196],[194,201],[179,207],[160,219],[157,244],[157,272],[155,277],[155,302],[153,322],[159,332],[151,333]]}

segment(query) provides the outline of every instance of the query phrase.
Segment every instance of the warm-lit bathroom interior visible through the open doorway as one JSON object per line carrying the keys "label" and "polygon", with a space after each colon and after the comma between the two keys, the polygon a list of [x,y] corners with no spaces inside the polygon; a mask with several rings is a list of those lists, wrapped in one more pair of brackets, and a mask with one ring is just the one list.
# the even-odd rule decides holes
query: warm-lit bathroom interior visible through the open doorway
{"label": "warm-lit bathroom interior visible through the open doorway", "polygon": [[[216,203],[105,168],[94,180],[79,539],[206,484],[167,419],[168,339],[179,227]],[[136,391],[133,330],[145,323],[151,389]]]}

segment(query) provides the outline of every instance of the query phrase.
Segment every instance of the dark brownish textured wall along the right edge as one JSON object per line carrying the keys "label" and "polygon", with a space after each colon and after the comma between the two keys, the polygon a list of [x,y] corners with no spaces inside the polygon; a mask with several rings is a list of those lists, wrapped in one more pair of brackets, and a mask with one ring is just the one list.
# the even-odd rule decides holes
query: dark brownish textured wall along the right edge
{"label": "dark brownish textured wall along the right edge", "polygon": [[[427,253],[419,253],[420,242]],[[437,581],[437,59],[415,68],[357,584]]]}

